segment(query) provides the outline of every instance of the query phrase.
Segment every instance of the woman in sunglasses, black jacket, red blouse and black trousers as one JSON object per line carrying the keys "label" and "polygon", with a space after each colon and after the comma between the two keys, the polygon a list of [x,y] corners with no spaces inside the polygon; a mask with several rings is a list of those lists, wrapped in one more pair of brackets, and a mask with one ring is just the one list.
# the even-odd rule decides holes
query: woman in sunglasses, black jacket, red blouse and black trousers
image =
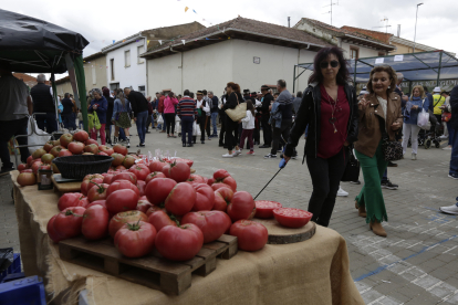
{"label": "woman in sunglasses, black jacket, red blouse and black trousers", "polygon": [[313,64],[283,157],[290,160],[309,125],[304,152],[313,183],[309,212],[312,221],[327,227],[351,146],[357,140],[357,101],[339,48],[322,49]]}

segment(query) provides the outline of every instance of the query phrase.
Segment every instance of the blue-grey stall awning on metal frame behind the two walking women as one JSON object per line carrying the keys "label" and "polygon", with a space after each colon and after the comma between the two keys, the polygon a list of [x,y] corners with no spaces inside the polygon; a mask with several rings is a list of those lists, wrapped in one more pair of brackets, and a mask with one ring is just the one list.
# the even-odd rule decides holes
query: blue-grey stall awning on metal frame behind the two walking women
{"label": "blue-grey stall awning on metal frame behind the two walking women", "polygon": [[[382,64],[391,65],[396,72],[403,73],[405,81],[438,82],[458,78],[458,60],[445,51],[347,60],[350,75],[356,83],[367,82],[371,70]],[[314,69],[313,63],[294,65],[294,80],[300,76],[300,74],[295,76],[296,66],[304,71]]]}

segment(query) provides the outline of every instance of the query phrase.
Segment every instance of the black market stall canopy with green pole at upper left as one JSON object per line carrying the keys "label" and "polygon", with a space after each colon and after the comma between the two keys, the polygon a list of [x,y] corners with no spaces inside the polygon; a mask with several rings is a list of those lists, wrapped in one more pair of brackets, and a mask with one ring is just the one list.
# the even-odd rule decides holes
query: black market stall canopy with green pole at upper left
{"label": "black market stall canopy with green pole at upper left", "polygon": [[[89,41],[81,34],[53,23],[0,9],[0,60],[9,62],[14,72],[69,72],[76,104],[83,112],[87,129],[86,88],[82,53]],[[1,63],[0,63],[1,64]],[[81,105],[80,98],[81,96]],[[56,95],[54,95],[58,105]],[[58,106],[56,118],[58,118]]]}

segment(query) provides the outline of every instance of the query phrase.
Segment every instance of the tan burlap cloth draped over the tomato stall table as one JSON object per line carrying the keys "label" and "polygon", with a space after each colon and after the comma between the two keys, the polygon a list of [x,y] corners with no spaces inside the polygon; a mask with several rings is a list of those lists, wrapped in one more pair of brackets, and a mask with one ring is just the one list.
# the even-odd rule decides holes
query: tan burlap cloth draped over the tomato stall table
{"label": "tan burlap cloth draped over the tomato stall table", "polygon": [[[18,172],[12,172],[15,181]],[[289,245],[266,245],[254,253],[240,251],[217,260],[206,277],[179,296],[137,285],[86,267],[63,262],[46,234],[48,220],[59,212],[58,194],[37,186],[14,186],[21,256],[28,276],[45,278],[48,297],[65,294],[62,303],[77,303],[87,290],[90,304],[364,304],[348,270],[345,240],[318,225],[315,235]]]}

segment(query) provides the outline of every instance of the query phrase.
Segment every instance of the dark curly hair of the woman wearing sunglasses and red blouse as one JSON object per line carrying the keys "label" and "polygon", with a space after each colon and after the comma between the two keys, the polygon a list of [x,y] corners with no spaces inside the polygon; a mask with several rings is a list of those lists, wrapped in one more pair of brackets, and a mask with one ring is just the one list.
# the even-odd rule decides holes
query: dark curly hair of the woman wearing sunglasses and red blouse
{"label": "dark curly hair of the woman wearing sunglasses and red blouse", "polygon": [[309,77],[309,84],[314,83],[314,82],[318,82],[318,83],[323,82],[323,73],[321,72],[320,63],[322,61],[327,60],[327,57],[331,54],[334,54],[337,57],[339,63],[341,64],[341,69],[339,70],[339,73],[336,76],[337,84],[345,85],[346,82],[350,81],[347,63],[344,59],[342,50],[337,46],[332,46],[332,48],[321,49],[320,52],[318,52],[318,54],[315,55],[315,59],[313,60],[313,73]]}

